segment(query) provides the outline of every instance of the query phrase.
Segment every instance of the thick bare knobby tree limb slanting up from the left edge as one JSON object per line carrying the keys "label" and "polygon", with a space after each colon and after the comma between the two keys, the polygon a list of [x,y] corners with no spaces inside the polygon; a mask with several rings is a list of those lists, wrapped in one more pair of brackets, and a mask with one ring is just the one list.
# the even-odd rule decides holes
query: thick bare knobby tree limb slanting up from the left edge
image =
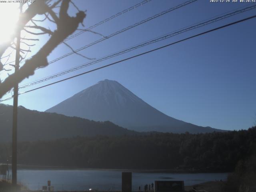
{"label": "thick bare knobby tree limb slanting up from the left edge", "polygon": [[[36,1],[41,2],[41,1]],[[58,18],[57,29],[53,32],[52,36],[44,44],[44,46],[31,58],[26,60],[25,64],[18,70],[16,73],[11,74],[8,76],[2,84],[0,84],[0,98],[9,90],[11,90],[17,82],[21,82],[25,78],[34,74],[34,70],[36,68],[45,67],[48,65],[47,56],[60,44],[64,39],[66,39],[69,35],[74,33],[78,28],[78,25],[83,22],[86,14],[82,11],[76,14],[76,17],[70,17],[67,13],[69,7],[70,0],[62,0],[60,6],[60,12]],[[31,4],[30,6],[34,5],[35,3]],[[44,6],[48,7],[45,4]],[[40,9],[41,7],[37,7],[36,9]],[[29,8],[28,8],[29,9]],[[46,8],[48,10],[49,7]],[[34,11],[36,12],[36,11]],[[38,14],[44,14],[44,9],[39,11]],[[50,12],[49,12],[50,13]],[[51,15],[52,16],[52,15]],[[27,23],[27,22],[26,22]],[[22,26],[25,26],[22,25]]]}

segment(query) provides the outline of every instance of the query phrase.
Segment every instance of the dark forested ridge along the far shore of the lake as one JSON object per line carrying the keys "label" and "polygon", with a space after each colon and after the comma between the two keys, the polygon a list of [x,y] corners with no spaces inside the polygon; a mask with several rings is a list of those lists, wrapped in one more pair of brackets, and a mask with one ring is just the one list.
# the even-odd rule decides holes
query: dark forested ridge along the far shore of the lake
{"label": "dark forested ridge along the far shore of the lake", "polygon": [[[256,154],[256,127],[208,134],[152,133],[20,142],[18,164],[81,168],[232,171]],[[10,145],[0,145],[6,162]]]}

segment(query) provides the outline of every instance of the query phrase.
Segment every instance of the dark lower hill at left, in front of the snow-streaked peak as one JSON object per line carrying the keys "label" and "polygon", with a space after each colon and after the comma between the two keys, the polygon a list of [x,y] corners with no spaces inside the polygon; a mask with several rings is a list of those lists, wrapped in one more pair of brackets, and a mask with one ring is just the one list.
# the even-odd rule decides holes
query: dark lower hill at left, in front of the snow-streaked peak
{"label": "dark lower hill at left, in front of the snow-streaked peak", "polygon": [[[12,106],[0,104],[0,141],[12,138]],[[68,117],[56,113],[38,112],[18,107],[18,140],[48,140],[75,136],[119,136],[133,135],[112,122],[95,122],[79,117]]]}

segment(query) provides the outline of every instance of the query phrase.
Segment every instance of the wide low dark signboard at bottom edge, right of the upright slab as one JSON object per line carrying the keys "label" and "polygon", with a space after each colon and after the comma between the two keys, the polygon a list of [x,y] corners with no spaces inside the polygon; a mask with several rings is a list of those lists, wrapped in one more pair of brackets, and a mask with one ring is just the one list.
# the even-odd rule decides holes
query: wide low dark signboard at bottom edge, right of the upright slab
{"label": "wide low dark signboard at bottom edge, right of the upright slab", "polygon": [[184,181],[155,181],[155,192],[182,192]]}

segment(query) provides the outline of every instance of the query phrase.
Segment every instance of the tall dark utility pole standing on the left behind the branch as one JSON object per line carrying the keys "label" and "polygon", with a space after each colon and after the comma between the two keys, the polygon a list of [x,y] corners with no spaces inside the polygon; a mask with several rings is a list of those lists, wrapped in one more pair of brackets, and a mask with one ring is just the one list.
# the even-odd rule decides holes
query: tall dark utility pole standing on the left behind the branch
{"label": "tall dark utility pole standing on the left behind the branch", "polygon": [[[20,14],[22,13],[22,4],[20,3]],[[17,42],[16,42],[16,56],[15,56],[15,73],[20,68],[20,26],[17,24]],[[14,86],[13,95],[13,114],[12,114],[12,186],[16,191],[17,187],[17,117],[18,117],[18,86]]]}

